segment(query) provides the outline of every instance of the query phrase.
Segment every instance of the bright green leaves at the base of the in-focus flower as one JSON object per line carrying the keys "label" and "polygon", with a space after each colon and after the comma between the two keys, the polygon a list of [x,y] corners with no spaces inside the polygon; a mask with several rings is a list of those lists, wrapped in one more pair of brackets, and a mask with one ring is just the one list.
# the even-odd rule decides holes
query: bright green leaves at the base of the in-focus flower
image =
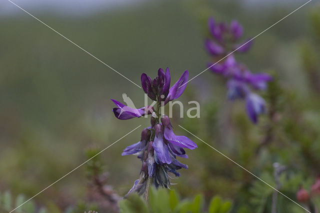
{"label": "bright green leaves at the base of the in-focus flower", "polygon": [[203,195],[197,194],[193,199],[180,200],[175,190],[150,189],[148,204],[137,194],[131,194],[119,202],[120,212],[129,213],[227,213],[231,210],[231,202],[220,196],[212,197],[208,210],[203,210]]}

